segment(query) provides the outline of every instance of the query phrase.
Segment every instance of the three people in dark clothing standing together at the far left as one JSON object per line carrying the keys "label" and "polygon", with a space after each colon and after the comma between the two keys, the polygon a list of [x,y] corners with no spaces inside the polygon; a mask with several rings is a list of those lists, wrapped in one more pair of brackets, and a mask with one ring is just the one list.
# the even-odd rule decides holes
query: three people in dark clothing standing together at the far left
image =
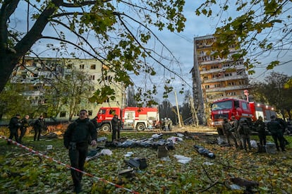
{"label": "three people in dark clothing standing together at the far left", "polygon": [[[10,122],[8,124],[9,132],[10,132],[9,139],[13,140],[13,138],[15,138],[17,143],[22,143],[23,136],[25,135],[28,127],[30,126],[28,119],[30,119],[29,115],[25,115],[23,119],[20,119],[20,114],[16,114],[16,116],[13,116],[10,119]],[[33,128],[35,131],[34,140],[39,140],[42,130],[46,128],[44,116],[42,115],[39,116],[39,119],[37,119],[35,123],[33,123]],[[18,136],[18,133],[19,133],[18,131],[20,131],[19,136]],[[11,142],[9,141],[7,143],[8,145],[11,144]]]}

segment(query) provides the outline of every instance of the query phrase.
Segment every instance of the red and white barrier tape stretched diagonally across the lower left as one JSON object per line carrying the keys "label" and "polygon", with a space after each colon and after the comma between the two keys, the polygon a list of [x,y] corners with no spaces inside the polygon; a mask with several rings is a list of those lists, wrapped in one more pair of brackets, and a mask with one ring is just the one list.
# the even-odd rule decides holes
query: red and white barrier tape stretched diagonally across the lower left
{"label": "red and white barrier tape stretched diagonally across the lower left", "polygon": [[28,150],[29,152],[32,152],[33,154],[37,154],[37,155],[39,155],[40,157],[44,157],[45,159],[49,159],[49,160],[51,160],[51,161],[53,161],[53,162],[56,162],[56,163],[58,163],[58,164],[61,164],[61,165],[63,165],[63,166],[66,166],[66,167],[68,167],[68,168],[70,168],[70,169],[73,169],[73,170],[75,170],[75,171],[78,171],[78,172],[80,172],[80,173],[83,173],[83,174],[85,174],[86,176],[90,176],[90,177],[92,177],[92,178],[96,178],[98,181],[103,181],[104,183],[108,183],[108,184],[110,184],[110,185],[112,185],[112,186],[115,186],[116,188],[121,188],[121,189],[126,190],[126,191],[128,191],[128,192],[130,192],[130,193],[139,194],[137,191],[130,190],[130,189],[128,189],[128,188],[124,188],[123,186],[119,186],[119,185],[117,185],[116,183],[111,183],[110,181],[107,181],[107,180],[105,180],[104,178],[99,178],[99,177],[94,176],[94,175],[92,175],[92,174],[89,174],[89,173],[87,173],[87,172],[85,172],[85,171],[80,171],[80,169],[76,169],[76,168],[74,168],[73,166],[70,166],[70,165],[65,164],[65,163],[63,163],[63,162],[60,162],[60,161],[58,161],[58,160],[56,160],[56,159],[54,159],[54,158],[52,158],[52,157],[49,157],[49,156],[47,156],[46,154],[42,154],[42,153],[40,153],[40,152],[37,152],[37,151],[35,151],[35,150],[32,150],[31,148],[26,147],[25,145],[22,145],[22,144],[20,144],[20,143],[17,143],[16,141],[13,141],[13,140],[11,140],[11,139],[9,139],[9,138],[6,138],[6,137],[3,136],[3,135],[0,135],[0,138],[3,138],[3,139],[7,140],[7,141],[10,142],[10,143],[13,143],[13,144],[15,144],[15,145],[17,145],[17,146],[19,146],[19,147],[22,147],[22,148],[24,148],[25,150]]}

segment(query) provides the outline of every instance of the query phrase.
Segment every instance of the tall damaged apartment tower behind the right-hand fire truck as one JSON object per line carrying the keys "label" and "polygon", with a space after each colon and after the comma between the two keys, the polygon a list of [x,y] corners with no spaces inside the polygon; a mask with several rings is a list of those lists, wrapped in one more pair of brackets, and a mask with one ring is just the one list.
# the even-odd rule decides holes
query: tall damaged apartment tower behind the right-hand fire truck
{"label": "tall damaged apartment tower behind the right-hand fire truck", "polygon": [[209,123],[210,104],[219,98],[242,97],[248,88],[248,75],[243,59],[233,61],[238,50],[230,45],[226,59],[213,56],[216,37],[206,35],[194,38],[193,97],[200,123]]}

